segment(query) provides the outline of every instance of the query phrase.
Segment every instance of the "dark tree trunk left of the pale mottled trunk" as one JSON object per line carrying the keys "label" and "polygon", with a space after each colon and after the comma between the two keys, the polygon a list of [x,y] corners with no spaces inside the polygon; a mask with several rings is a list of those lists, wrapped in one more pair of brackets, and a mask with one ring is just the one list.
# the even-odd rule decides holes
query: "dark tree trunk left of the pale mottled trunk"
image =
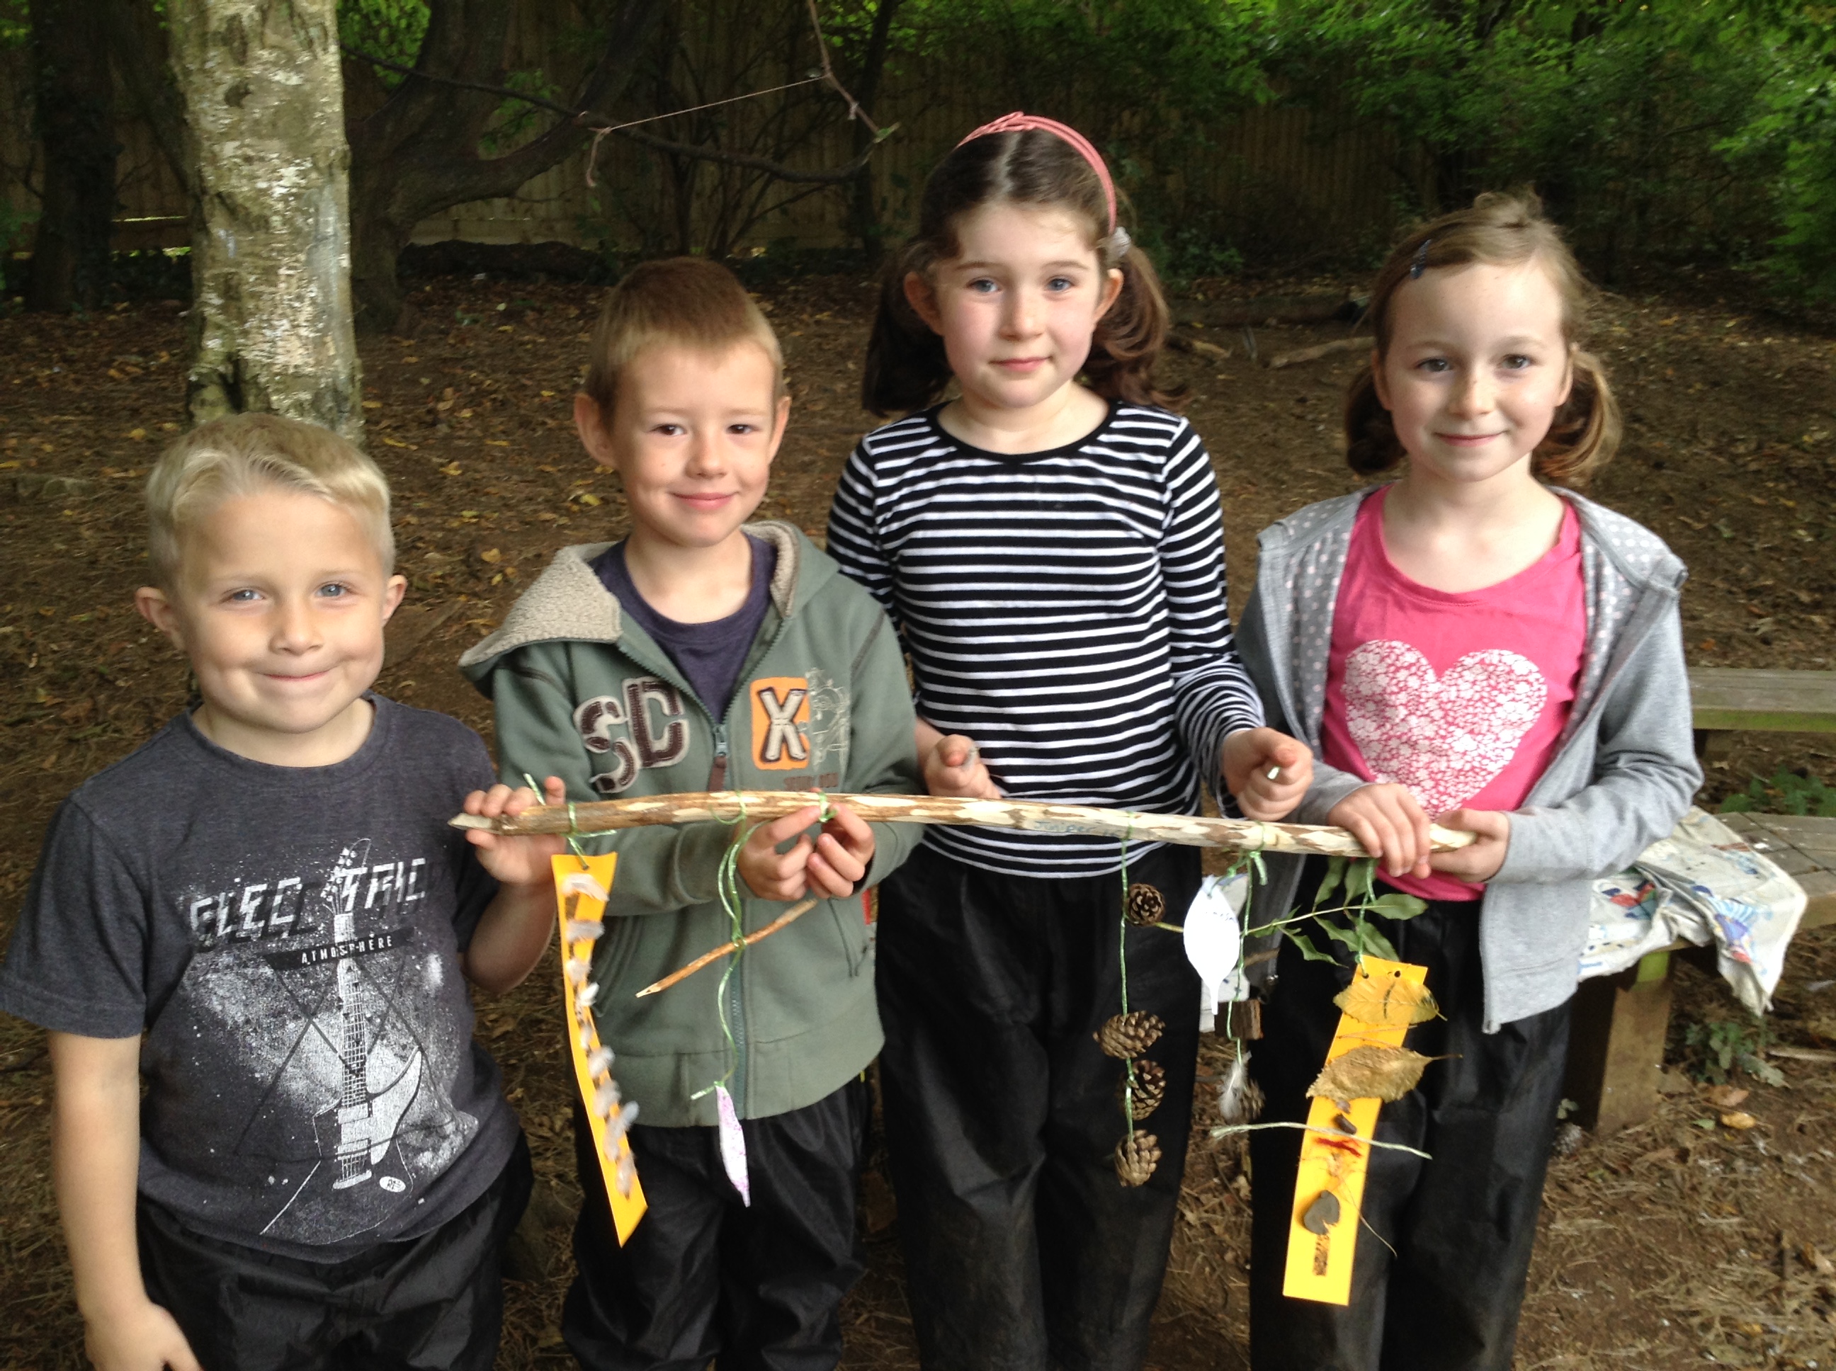
{"label": "dark tree trunk left of the pale mottled trunk", "polygon": [[114,81],[84,0],[31,0],[33,103],[44,200],[26,308],[94,310],[108,288],[114,233]]}

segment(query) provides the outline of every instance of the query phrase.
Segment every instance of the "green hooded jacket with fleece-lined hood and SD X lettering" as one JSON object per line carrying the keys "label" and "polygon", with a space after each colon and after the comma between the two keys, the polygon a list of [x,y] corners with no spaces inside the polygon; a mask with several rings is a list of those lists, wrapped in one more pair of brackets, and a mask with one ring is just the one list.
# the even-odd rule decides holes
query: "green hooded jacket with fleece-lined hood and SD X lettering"
{"label": "green hooded jacket with fleece-lined hood and SD X lettering", "polygon": [[[898,637],[879,606],[788,523],[745,525],[777,547],[771,602],[725,718],[630,622],[589,565],[608,543],[564,547],[503,626],[459,659],[498,714],[503,778],[560,776],[571,800],[709,789],[920,789]],[[812,797],[813,802],[815,797]],[[617,852],[606,936],[593,956],[600,1041],[643,1121],[712,1125],[727,1088],[742,1118],[813,1105],[879,1052],[865,888],[916,846],[916,824],[872,824],[874,861],[846,899],[826,899],[740,958],[643,1000],[639,989],[729,942],[716,874],[747,826],[632,828],[586,839]],[[744,892],[744,883],[742,883]],[[747,932],[784,912],[745,894]]]}

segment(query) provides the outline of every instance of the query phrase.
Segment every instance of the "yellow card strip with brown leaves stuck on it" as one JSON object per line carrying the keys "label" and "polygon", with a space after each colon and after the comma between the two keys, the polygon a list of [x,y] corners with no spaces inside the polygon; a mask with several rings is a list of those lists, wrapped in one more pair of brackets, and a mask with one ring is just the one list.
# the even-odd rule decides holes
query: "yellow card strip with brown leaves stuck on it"
{"label": "yellow card strip with brown leaves stuck on it", "polygon": [[[1377,956],[1366,956],[1362,965],[1366,975],[1401,975],[1412,986],[1419,986],[1428,976],[1427,967],[1410,962],[1384,962]],[[1399,1048],[1406,1035],[1408,1024],[1383,1028],[1342,1013],[1333,1044],[1326,1050],[1326,1061],[1342,1057],[1351,1048],[1371,1044]],[[1346,1118],[1357,1125],[1355,1134],[1342,1132],[1335,1125],[1338,1105],[1331,1099],[1315,1099],[1313,1109],[1307,1110],[1307,1127],[1320,1129],[1320,1132],[1302,1134],[1300,1171],[1294,1175],[1287,1276],[1282,1283],[1282,1294],[1291,1299],[1318,1299],[1322,1305],[1351,1303],[1351,1257],[1359,1246],[1364,1173],[1371,1154],[1371,1149],[1360,1140],[1368,1140],[1377,1129],[1377,1110],[1383,1101],[1351,1099],[1348,1103],[1351,1107],[1346,1110]],[[1324,1233],[1313,1233],[1302,1224],[1302,1217],[1324,1191],[1331,1191],[1338,1200],[1338,1219]]]}

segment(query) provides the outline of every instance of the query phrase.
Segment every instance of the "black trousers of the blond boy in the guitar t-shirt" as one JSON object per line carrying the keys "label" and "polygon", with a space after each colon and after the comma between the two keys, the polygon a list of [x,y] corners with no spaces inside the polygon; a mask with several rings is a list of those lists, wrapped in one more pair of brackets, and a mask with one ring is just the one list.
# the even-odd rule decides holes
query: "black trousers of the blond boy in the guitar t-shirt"
{"label": "black trousers of the blond boy in the guitar t-shirt", "polygon": [[529,1143],[444,1224],[340,1263],[275,1257],[140,1202],[147,1294],[204,1371],[490,1371],[503,1331],[503,1244],[529,1204]]}

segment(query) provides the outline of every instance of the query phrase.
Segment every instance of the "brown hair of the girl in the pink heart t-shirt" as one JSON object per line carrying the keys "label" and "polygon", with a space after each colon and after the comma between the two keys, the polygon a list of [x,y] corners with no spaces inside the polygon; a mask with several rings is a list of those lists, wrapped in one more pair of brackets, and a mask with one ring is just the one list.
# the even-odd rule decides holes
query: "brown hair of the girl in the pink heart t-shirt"
{"label": "brown hair of the girl in the pink heart t-shirt", "polygon": [[[1540,481],[1584,486],[1619,448],[1619,402],[1606,384],[1599,358],[1581,351],[1592,286],[1581,275],[1561,229],[1542,217],[1542,200],[1529,191],[1485,193],[1471,209],[1417,228],[1390,253],[1371,284],[1370,318],[1377,362],[1390,352],[1395,292],[1438,266],[1520,266],[1537,261],[1562,297],[1562,340],[1573,382],[1568,400],[1555,411],[1548,435],[1531,453],[1531,472]],[[1346,393],[1346,463],[1359,475],[1388,472],[1403,461],[1390,411],[1377,398],[1377,380],[1366,362]]]}

